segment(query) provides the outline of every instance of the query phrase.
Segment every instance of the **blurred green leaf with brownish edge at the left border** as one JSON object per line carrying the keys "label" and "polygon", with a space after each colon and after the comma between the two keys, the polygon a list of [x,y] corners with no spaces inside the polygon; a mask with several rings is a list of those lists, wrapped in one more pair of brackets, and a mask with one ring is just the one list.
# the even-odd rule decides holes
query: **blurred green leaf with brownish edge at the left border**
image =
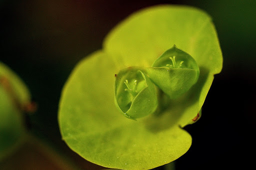
{"label": "blurred green leaf with brownish edge at the left border", "polygon": [[0,159],[21,142],[25,134],[24,112],[30,93],[24,82],[0,62]]}

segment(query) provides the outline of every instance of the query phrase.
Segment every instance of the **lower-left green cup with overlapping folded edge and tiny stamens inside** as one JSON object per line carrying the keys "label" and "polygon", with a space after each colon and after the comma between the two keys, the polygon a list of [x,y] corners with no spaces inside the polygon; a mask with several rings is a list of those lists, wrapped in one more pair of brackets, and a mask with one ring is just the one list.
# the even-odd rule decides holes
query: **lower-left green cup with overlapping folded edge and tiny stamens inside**
{"label": "lower-left green cup with overlapping folded edge and tiny stamens inside", "polygon": [[156,89],[139,67],[121,69],[115,74],[115,104],[128,118],[144,117],[157,107]]}

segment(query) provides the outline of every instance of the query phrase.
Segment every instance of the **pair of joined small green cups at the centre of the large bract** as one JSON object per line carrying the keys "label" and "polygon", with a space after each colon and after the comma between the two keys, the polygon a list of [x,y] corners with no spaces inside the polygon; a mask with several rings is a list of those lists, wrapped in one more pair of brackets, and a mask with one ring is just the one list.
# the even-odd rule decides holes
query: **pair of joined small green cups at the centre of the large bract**
{"label": "pair of joined small green cups at the centre of the large bract", "polygon": [[151,67],[131,66],[115,74],[115,104],[128,118],[144,117],[158,106],[157,88],[175,99],[188,91],[198,76],[199,67],[193,57],[173,45]]}

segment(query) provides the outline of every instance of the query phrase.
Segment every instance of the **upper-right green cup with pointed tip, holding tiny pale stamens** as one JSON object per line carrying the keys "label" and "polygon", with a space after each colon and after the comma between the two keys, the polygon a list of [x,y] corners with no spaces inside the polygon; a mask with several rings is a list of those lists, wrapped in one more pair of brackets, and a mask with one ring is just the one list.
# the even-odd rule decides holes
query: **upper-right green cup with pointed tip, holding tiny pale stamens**
{"label": "upper-right green cup with pointed tip, holding tiny pale stamens", "polygon": [[199,67],[193,57],[175,45],[163,52],[146,71],[170,98],[185,93],[199,76]]}

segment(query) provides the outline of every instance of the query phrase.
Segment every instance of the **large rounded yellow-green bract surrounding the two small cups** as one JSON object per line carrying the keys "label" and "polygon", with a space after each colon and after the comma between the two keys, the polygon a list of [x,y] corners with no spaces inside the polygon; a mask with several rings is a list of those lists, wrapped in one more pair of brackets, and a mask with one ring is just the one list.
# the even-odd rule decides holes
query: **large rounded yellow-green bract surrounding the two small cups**
{"label": "large rounded yellow-green bract surrounding the two small cups", "polygon": [[[155,79],[152,78],[155,73],[150,73],[146,68],[151,67],[154,61],[156,63],[157,58],[173,44],[192,56],[198,65],[199,76],[198,69],[191,64],[194,63],[193,59],[175,56],[175,66],[181,60],[183,63],[180,68],[172,68],[177,71],[180,69],[177,74],[176,70],[173,71],[174,76],[189,83],[180,83],[186,89],[173,95],[185,92],[177,98],[171,98],[163,92],[165,87],[160,87],[154,80],[157,84],[155,87],[162,88],[156,90],[156,114],[148,114],[153,110],[148,105],[145,113],[140,112],[147,116],[136,121],[124,117],[120,109],[131,109],[132,102],[140,95],[136,91],[132,100],[133,95],[125,91],[127,86],[133,88],[135,80],[126,78],[129,75],[127,68],[139,67],[141,72],[136,74],[142,82],[147,81],[146,77]],[[170,57],[174,61],[173,56]],[[164,65],[153,64],[153,67],[162,66],[165,69],[166,64],[173,65],[172,60],[169,58]],[[182,71],[182,66],[191,71]],[[102,50],[81,60],[72,71],[63,87],[59,103],[58,121],[62,138],[79,155],[105,167],[150,169],[173,161],[190,147],[191,136],[182,127],[193,123],[200,116],[198,112],[213,75],[219,73],[221,67],[222,55],[217,35],[211,18],[205,12],[193,7],[172,5],[140,10],[106,36]],[[119,71],[124,71],[120,74],[123,77],[116,82],[120,85],[113,88],[116,80],[114,74]],[[175,80],[168,80],[172,78],[169,74],[159,72],[159,78],[166,77],[166,82],[169,81],[174,89],[179,88],[172,85],[171,81]],[[147,84],[149,87],[151,83]],[[139,87],[141,90],[144,88],[145,84]],[[146,97],[144,94],[141,96]],[[118,103],[120,109],[114,102],[119,97],[124,97],[123,102]]]}

